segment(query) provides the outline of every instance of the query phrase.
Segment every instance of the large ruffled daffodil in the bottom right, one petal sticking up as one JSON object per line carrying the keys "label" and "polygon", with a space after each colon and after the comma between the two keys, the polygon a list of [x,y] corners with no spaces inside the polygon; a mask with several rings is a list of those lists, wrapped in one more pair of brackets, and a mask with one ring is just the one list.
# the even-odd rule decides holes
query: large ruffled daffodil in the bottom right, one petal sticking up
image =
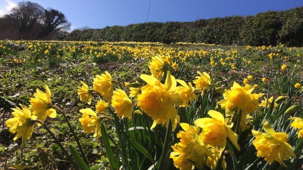
{"label": "large ruffled daffodil in the bottom right, one petal sticking up", "polygon": [[287,133],[275,132],[266,120],[263,123],[263,129],[266,133],[251,130],[252,135],[256,137],[252,144],[258,150],[257,156],[264,157],[269,164],[277,161],[286,167],[283,159],[296,158],[292,146],[287,143]]}

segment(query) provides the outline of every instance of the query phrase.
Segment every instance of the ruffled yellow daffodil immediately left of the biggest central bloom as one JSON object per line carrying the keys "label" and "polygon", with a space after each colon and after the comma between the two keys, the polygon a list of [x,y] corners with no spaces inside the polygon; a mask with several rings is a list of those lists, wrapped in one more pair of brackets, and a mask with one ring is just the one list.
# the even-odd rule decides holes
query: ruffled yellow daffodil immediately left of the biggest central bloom
{"label": "ruffled yellow daffodil immediately left of the biggest central bloom", "polygon": [[127,97],[125,91],[116,89],[111,98],[111,105],[115,108],[117,115],[122,119],[124,117],[130,119],[135,111],[133,110],[132,101]]}

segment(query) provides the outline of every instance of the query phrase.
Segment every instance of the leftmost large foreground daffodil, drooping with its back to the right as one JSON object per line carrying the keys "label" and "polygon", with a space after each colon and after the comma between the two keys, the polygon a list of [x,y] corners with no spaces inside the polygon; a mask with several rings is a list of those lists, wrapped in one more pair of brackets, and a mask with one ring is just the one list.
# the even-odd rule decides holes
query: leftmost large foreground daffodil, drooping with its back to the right
{"label": "leftmost large foreground daffodil, drooping with its back to the right", "polygon": [[13,110],[13,118],[5,121],[7,127],[9,127],[11,133],[16,133],[14,140],[17,140],[22,136],[22,145],[32,136],[34,131],[34,124],[37,117],[32,115],[28,107],[20,104],[20,107],[11,108]]}

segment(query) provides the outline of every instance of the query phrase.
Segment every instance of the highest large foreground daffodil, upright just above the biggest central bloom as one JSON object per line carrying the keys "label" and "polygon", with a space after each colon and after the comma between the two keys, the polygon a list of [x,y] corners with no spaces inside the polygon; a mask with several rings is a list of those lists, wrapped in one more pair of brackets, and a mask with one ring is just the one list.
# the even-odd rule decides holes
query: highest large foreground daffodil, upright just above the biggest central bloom
{"label": "highest large foreground daffodil, upright just above the biggest central bloom", "polygon": [[161,80],[164,75],[164,64],[165,63],[161,55],[156,55],[155,57],[152,57],[152,61],[149,62],[148,68],[150,69],[152,76],[154,76],[158,80]]}

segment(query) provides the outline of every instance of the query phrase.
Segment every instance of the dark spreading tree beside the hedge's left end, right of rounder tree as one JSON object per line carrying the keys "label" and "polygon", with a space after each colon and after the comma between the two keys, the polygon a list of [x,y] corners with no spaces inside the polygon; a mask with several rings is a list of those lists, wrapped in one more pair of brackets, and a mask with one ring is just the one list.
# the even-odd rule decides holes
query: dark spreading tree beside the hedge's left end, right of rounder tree
{"label": "dark spreading tree beside the hedge's left end, right of rounder tree", "polygon": [[65,15],[57,10],[44,10],[43,24],[41,36],[45,37],[52,32],[61,32],[70,30],[70,22],[67,21]]}

